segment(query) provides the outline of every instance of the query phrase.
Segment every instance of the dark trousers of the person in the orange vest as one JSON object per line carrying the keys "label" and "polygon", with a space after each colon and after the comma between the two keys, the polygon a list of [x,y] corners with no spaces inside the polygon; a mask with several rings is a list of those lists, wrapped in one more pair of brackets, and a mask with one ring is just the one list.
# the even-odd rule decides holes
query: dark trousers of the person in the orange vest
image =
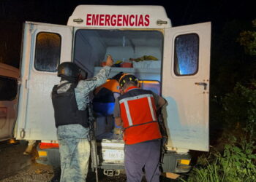
{"label": "dark trousers of the person in the orange vest", "polygon": [[147,141],[124,147],[124,167],[127,182],[140,182],[143,168],[148,182],[159,182],[159,157],[161,141]]}

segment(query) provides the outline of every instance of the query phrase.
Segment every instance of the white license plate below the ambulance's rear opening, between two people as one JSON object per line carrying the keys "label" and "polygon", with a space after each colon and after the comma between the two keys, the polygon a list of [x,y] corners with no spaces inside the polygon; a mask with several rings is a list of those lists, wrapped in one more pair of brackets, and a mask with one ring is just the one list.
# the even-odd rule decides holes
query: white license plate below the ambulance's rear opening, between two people
{"label": "white license plate below the ambulance's rear opening, between two people", "polygon": [[104,162],[124,162],[124,150],[110,150],[103,151]]}

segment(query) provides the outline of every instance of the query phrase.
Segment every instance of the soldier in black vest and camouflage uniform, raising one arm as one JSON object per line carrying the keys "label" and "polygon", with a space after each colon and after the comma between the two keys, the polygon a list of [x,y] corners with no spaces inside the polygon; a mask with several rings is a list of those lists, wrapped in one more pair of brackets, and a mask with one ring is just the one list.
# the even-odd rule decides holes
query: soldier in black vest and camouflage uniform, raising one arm
{"label": "soldier in black vest and camouflage uniform, raising one arm", "polygon": [[87,104],[89,93],[104,84],[113,66],[111,56],[97,76],[79,80],[81,69],[71,62],[61,63],[58,76],[61,81],[53,87],[54,108],[59,151],[61,154],[61,181],[86,181],[90,143]]}

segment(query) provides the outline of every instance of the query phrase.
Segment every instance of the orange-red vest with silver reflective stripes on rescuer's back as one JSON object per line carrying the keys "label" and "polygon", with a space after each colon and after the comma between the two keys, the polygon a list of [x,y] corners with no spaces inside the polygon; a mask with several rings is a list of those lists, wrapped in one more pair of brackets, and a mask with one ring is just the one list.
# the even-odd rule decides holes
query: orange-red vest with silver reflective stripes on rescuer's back
{"label": "orange-red vest with silver reflective stripes on rescuer's back", "polygon": [[118,101],[124,123],[124,143],[135,144],[162,138],[154,96],[150,90],[129,87]]}

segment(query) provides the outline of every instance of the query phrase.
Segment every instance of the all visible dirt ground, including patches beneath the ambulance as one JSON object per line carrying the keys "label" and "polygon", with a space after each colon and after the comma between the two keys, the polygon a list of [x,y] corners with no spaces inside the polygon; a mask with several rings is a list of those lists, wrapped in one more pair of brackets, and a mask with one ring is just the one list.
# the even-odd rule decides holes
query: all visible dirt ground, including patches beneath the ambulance
{"label": "all visible dirt ground, including patches beneath the ambulance", "polygon": [[[0,182],[47,182],[53,178],[53,168],[49,165],[41,165],[35,162],[37,151],[34,149],[31,155],[24,155],[26,145],[24,143],[0,142]],[[100,182],[126,181],[125,173],[118,176],[107,177],[102,170],[98,170]],[[89,172],[86,181],[96,181],[95,173]],[[173,181],[161,177],[161,182]],[[143,178],[143,182],[146,180]]]}

